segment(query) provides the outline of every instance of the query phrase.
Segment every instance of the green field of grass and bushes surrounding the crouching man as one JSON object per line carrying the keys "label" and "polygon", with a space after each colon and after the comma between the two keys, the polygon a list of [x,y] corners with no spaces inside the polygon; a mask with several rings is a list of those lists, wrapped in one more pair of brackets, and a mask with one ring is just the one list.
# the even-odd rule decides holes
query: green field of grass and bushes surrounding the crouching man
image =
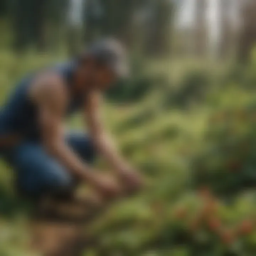
{"label": "green field of grass and bushes surrounding the crouching man", "polygon": [[[0,101],[27,70],[56,59],[1,52]],[[84,227],[97,242],[84,255],[255,255],[256,61],[246,68],[195,60],[145,63],[143,75],[131,82],[150,81],[145,93],[123,104],[107,100],[104,117],[150,186]],[[80,127],[79,115],[68,124]],[[27,207],[11,177],[2,163],[0,255],[28,256]]]}

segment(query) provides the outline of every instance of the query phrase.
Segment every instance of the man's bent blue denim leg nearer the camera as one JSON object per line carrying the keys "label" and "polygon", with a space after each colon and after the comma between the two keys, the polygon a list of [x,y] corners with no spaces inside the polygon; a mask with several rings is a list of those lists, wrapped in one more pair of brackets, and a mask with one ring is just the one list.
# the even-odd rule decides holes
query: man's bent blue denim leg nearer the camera
{"label": "man's bent blue denim leg nearer the camera", "polygon": [[70,190],[73,177],[57,160],[49,156],[40,144],[25,142],[11,156],[20,188],[34,195]]}

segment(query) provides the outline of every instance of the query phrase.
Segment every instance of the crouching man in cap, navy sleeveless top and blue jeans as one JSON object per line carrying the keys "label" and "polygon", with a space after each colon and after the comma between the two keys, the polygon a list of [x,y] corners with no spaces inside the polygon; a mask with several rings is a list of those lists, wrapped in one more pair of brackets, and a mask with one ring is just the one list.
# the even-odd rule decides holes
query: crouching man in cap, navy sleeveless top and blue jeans
{"label": "crouching man in cap, navy sleeveless top and blue jeans", "polygon": [[[100,119],[102,91],[127,75],[126,51],[118,41],[93,44],[75,60],[28,75],[0,111],[0,155],[17,175],[26,194],[64,195],[78,182],[91,185],[104,199],[134,192],[137,172],[118,154]],[[64,134],[67,114],[81,110],[89,135]],[[91,167],[100,153],[118,182]]]}

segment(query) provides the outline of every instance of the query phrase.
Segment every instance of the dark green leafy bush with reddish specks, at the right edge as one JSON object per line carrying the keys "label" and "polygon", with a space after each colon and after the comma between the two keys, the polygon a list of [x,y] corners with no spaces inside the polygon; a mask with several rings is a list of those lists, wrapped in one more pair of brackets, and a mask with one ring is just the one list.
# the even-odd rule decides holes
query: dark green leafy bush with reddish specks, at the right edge
{"label": "dark green leafy bush with reddish specks, at the right edge", "polygon": [[255,116],[255,105],[212,114],[206,145],[194,159],[197,183],[225,196],[255,187]]}

